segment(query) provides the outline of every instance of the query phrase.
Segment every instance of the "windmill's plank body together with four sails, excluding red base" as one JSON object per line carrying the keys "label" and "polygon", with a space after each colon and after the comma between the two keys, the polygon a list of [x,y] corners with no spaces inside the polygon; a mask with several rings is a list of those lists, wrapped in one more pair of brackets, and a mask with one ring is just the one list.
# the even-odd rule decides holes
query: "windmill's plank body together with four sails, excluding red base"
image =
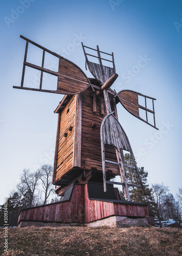
{"label": "windmill's plank body together with four sails, excluding red base", "polygon": [[[24,36],[20,37],[26,40],[26,51],[21,86],[14,88],[65,94],[55,110],[55,113],[58,113],[53,170],[53,184],[56,185],[56,193],[67,197],[66,191],[71,191],[70,188],[73,184],[84,185],[86,183],[92,184],[88,187],[93,191],[96,190],[97,199],[105,198],[109,200],[110,197],[112,198],[110,191],[113,184],[123,186],[128,201],[130,201],[128,186],[141,187],[145,193],[129,140],[118,121],[116,104],[121,102],[129,113],[156,128],[155,99],[130,90],[119,93],[112,91],[110,87],[118,77],[115,71],[113,53],[102,52],[98,46],[97,49],[93,49],[82,44],[87,67],[95,77],[87,78],[75,63],[45,49]],[[42,49],[41,66],[27,62],[29,44]],[[97,56],[88,54],[87,49],[97,52]],[[44,67],[45,52],[58,57],[58,72]],[[103,58],[103,54],[107,55],[108,58]],[[89,56],[97,58],[98,63],[90,62],[88,60]],[[112,67],[104,66],[103,61],[109,61]],[[41,72],[39,88],[25,87],[26,67]],[[42,88],[43,73],[57,76],[56,90]],[[139,104],[139,97],[144,98],[144,105]],[[147,100],[151,100],[152,109],[147,108]],[[145,112],[145,119],[140,116],[140,110]],[[149,122],[148,114],[152,115],[152,122]],[[131,166],[125,164],[123,151],[130,153],[133,161]],[[140,184],[127,182],[126,167],[135,170]],[[122,182],[111,181],[118,175],[121,176]],[[101,186],[103,191],[101,191]],[[92,193],[94,193],[93,191]],[[119,200],[119,196],[115,199]]]}

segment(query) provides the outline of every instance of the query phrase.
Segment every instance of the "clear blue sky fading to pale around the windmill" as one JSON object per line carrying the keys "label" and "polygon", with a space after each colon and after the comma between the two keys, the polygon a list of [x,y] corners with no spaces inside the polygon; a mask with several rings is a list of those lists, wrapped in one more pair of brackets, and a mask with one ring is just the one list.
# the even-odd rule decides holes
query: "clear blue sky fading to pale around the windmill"
{"label": "clear blue sky fading to pale around the windmill", "polygon": [[[111,89],[156,98],[158,131],[117,105],[138,167],[148,172],[149,185],[164,182],[175,196],[182,186],[181,0],[2,0],[0,5],[0,204],[16,189],[24,168],[53,164],[54,110],[63,97],[13,89],[20,86],[24,61],[20,35],[73,61],[88,77],[81,41],[113,52],[119,77]],[[30,58],[39,61],[39,54],[32,51]],[[33,77],[30,83],[36,83],[36,73]]]}

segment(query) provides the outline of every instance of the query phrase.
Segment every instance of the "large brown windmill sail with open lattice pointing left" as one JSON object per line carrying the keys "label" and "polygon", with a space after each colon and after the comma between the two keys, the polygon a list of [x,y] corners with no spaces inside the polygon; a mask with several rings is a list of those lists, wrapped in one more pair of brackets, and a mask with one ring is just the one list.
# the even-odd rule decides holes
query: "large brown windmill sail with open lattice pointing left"
{"label": "large brown windmill sail with open lattice pointing left", "polygon": [[[32,90],[32,91],[40,91],[40,92],[49,92],[49,93],[58,93],[58,94],[77,94],[80,93],[88,88],[90,82],[84,72],[70,60],[63,58],[62,56],[45,49],[44,47],[36,44],[35,42],[31,41],[30,39],[21,36],[22,39],[26,40],[26,50],[25,50],[25,57],[24,57],[24,66],[22,71],[22,78],[21,78],[21,86],[13,88],[17,89],[25,89],[25,90]],[[27,54],[28,54],[28,45],[32,44],[40,49],[43,50],[42,54],[42,65],[37,66],[33,63],[27,62]],[[50,69],[44,68],[44,58],[45,52],[48,52],[59,59],[59,68],[58,72],[52,71]],[[26,67],[30,67],[32,69],[39,70],[40,73],[40,83],[39,88],[30,88],[24,85],[24,78],[25,78],[25,70]],[[48,73],[50,75],[57,77],[57,89],[56,90],[44,90],[42,88],[42,77],[44,73]]]}

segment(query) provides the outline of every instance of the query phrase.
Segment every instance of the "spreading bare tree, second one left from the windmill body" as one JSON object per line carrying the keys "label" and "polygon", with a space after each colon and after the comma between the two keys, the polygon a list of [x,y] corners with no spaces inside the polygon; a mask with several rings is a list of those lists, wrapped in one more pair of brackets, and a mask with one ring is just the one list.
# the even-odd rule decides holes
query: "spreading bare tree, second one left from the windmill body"
{"label": "spreading bare tree, second one left from the windmill body", "polygon": [[20,174],[20,182],[16,185],[22,198],[24,207],[31,207],[35,201],[35,191],[38,187],[38,181],[40,179],[40,170],[31,172],[30,169],[24,169]]}

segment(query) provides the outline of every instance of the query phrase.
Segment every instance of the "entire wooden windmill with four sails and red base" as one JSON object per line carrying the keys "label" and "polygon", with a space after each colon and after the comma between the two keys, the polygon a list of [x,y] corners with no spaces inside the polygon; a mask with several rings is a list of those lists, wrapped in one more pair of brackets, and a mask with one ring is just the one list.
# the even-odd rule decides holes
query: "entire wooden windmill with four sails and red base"
{"label": "entire wooden windmill with four sails and red base", "polygon": [[[118,94],[112,91],[110,87],[118,77],[113,53],[101,52],[98,46],[93,49],[82,44],[87,67],[95,77],[87,78],[73,62],[22,38],[26,40],[26,51],[21,86],[14,88],[66,95],[55,110],[58,124],[52,180],[57,195],[63,196],[63,200],[58,204],[21,210],[19,222],[41,220],[88,223],[109,216],[149,218],[146,204],[130,202],[129,186],[141,187],[144,193],[145,189],[129,140],[118,121],[116,105],[121,102],[132,115],[156,128],[155,99],[129,90]],[[42,49],[41,67],[27,62],[29,44]],[[97,56],[86,53],[85,49],[88,48],[96,51]],[[59,58],[58,72],[44,68],[45,52]],[[110,59],[103,58],[102,54],[108,55]],[[89,55],[96,57],[98,63],[90,62]],[[103,60],[111,62],[111,67],[104,66]],[[26,67],[41,72],[39,88],[24,86]],[[56,90],[42,89],[44,72],[58,77]],[[139,104],[139,97],[145,99],[144,105]],[[148,99],[152,100],[152,109],[147,108]],[[145,119],[140,116],[140,110],[145,112]],[[153,117],[153,123],[149,122],[149,114]],[[125,164],[124,151],[131,155],[131,166]],[[134,169],[139,184],[127,182],[126,167]],[[120,182],[113,181],[116,176],[121,177]],[[113,187],[115,184],[123,186],[126,201],[121,200],[118,189]]]}

